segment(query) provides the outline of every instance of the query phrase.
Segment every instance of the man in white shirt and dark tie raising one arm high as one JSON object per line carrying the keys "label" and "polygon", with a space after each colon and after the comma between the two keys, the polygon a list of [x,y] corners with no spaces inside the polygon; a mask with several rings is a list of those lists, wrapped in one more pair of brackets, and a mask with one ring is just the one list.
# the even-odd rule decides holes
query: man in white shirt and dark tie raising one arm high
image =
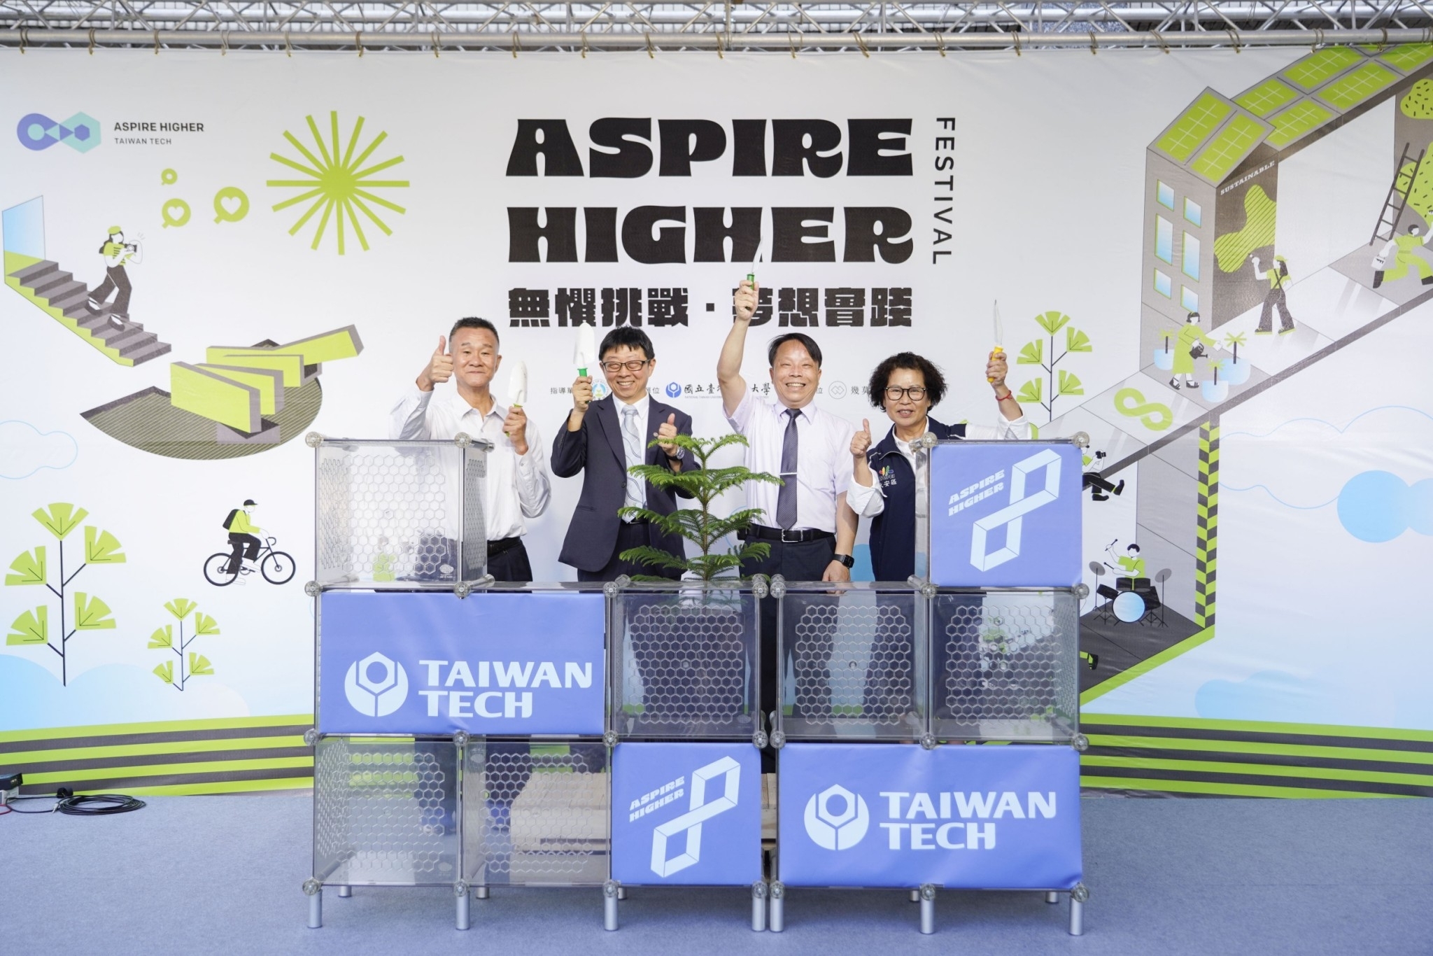
{"label": "man in white shirt and dark tie raising one arm high", "polygon": [[[751,482],[747,506],[762,517],[742,535],[771,546],[761,560],[745,562],[742,576],[782,575],[787,580],[850,580],[857,516],[845,505],[851,480],[851,436],[844,419],[811,404],[821,383],[821,347],[810,335],[787,333],[767,347],[777,401],[755,397],[741,377],[747,330],[757,310],[758,285],[744,279],[735,295],[735,321],[716,380],[731,427],[747,436],[747,467],[778,474],[784,484]],[[787,642],[790,646],[790,641]],[[775,601],[762,602],[761,709],[777,697]],[[818,651],[817,651],[818,652]],[[828,691],[827,691],[828,692]],[[820,691],[818,691],[820,694]]]}

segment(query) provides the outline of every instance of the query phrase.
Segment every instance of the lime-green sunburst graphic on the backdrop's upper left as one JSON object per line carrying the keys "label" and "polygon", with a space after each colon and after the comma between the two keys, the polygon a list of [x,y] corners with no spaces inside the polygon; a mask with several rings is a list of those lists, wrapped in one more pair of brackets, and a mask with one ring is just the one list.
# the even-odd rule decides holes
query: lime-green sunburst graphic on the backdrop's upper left
{"label": "lime-green sunburst graphic on the backdrop's upper left", "polygon": [[321,211],[318,225],[314,226],[314,242],[308,248],[318,248],[320,242],[324,241],[324,235],[328,232],[330,222],[332,222],[334,238],[338,241],[338,255],[344,255],[344,222],[347,221],[348,228],[351,228],[353,234],[358,238],[358,245],[361,245],[364,252],[367,252],[368,236],[364,235],[363,222],[360,221],[358,214],[363,214],[364,218],[383,229],[384,235],[393,235],[393,229],[390,229],[388,225],[378,218],[378,214],[374,212],[371,206],[391,209],[398,215],[407,212],[403,206],[377,195],[375,191],[406,188],[408,181],[373,178],[374,175],[401,163],[403,156],[374,162],[368,166],[364,165],[370,161],[370,156],[374,155],[378,146],[383,145],[383,140],[388,138],[388,133],[378,133],[371,143],[363,148],[363,152],[354,156],[354,150],[358,149],[358,142],[363,138],[363,116],[360,116],[358,122],[354,123],[354,132],[348,136],[347,142],[341,139],[338,132],[337,110],[328,113],[330,138],[327,142],[324,140],[322,133],[318,132],[318,123],[314,122],[314,118],[307,116],[305,119],[308,120],[308,132],[312,133],[314,146],[317,148],[318,155],[315,156],[314,150],[301,143],[294,133],[284,130],[284,139],[287,139],[289,145],[292,145],[294,149],[297,149],[308,162],[305,165],[298,159],[269,153],[269,159],[274,162],[297,169],[305,176],[304,179],[268,181],[269,186],[304,191],[297,196],[291,196],[275,205],[274,212],[308,202],[308,209],[304,211],[304,215],[301,215],[288,231],[289,235],[297,235],[298,231],[314,218],[314,214]]}

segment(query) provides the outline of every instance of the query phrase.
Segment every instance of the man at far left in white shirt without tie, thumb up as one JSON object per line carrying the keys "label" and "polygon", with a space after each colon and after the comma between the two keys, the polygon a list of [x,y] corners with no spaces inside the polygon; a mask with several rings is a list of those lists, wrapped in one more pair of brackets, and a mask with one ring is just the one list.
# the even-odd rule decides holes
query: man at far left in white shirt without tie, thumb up
{"label": "man at far left in white shirt without tie, thumb up", "polygon": [[[497,328],[486,318],[460,318],[447,341],[438,335],[416,387],[394,406],[390,434],[444,440],[463,431],[493,444],[481,502],[487,573],[522,582],[533,578],[523,546],[526,519],[546,510],[552,484],[537,427],[520,407],[504,408],[493,397],[493,376],[502,361]],[[454,378],[453,390],[436,388],[449,378]]]}

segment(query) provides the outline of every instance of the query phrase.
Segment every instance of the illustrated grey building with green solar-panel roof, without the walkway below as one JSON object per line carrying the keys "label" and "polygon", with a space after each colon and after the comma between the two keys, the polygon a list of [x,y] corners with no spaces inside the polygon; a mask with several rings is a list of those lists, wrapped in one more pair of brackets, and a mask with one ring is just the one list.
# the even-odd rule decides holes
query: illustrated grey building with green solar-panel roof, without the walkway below
{"label": "illustrated grey building with green solar-panel roof, without the walkway below", "polygon": [[[1433,44],[1324,47],[1232,99],[1205,89],[1159,133],[1145,166],[1145,361],[1188,312],[1198,311],[1209,330],[1262,302],[1268,281],[1255,277],[1250,257],[1274,265],[1280,163],[1430,73]],[[1433,122],[1397,110],[1394,140],[1390,179],[1416,166]],[[1406,209],[1406,193],[1390,189],[1383,239],[1417,215]]]}

